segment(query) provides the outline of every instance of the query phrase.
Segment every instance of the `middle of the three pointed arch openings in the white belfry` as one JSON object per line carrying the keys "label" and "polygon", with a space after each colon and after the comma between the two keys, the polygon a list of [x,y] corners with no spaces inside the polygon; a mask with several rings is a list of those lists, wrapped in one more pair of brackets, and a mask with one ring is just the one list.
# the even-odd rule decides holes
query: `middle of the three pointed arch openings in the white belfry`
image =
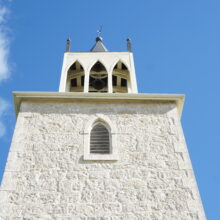
{"label": "middle of the three pointed arch openings in the white belfry", "polygon": [[100,61],[90,70],[89,92],[108,92],[108,73]]}

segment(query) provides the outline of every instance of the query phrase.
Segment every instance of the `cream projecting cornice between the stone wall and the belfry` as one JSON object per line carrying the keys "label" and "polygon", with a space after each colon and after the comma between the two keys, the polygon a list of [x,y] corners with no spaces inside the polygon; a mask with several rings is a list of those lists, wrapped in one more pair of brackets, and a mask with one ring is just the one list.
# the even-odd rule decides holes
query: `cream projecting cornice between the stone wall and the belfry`
{"label": "cream projecting cornice between the stone wall and the belfry", "polygon": [[71,101],[71,100],[124,100],[175,102],[181,118],[185,95],[183,94],[128,94],[128,93],[73,93],[73,92],[13,92],[16,115],[22,101]]}

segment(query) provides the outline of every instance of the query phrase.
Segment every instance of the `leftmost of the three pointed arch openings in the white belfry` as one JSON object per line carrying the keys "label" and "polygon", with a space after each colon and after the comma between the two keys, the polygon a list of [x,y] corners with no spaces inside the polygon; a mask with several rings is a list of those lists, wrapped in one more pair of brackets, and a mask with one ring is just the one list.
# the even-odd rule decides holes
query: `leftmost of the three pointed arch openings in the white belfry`
{"label": "leftmost of the three pointed arch openings in the white belfry", "polygon": [[82,65],[76,61],[67,72],[67,92],[83,92],[85,73]]}

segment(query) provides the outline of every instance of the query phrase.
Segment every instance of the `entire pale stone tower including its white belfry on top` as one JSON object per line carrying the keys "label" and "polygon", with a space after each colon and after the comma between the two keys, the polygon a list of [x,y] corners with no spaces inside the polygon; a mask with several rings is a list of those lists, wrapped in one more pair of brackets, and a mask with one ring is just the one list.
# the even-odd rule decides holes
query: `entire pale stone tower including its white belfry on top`
{"label": "entire pale stone tower including its white belfry on top", "polygon": [[64,54],[59,92],[14,92],[0,220],[205,220],[184,95],[138,94],[131,42]]}

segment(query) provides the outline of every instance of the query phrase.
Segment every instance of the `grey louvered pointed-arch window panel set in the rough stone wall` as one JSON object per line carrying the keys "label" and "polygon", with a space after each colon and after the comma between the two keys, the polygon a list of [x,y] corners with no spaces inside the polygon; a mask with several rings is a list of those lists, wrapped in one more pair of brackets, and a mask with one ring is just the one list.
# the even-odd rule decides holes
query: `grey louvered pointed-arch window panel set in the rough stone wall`
{"label": "grey louvered pointed-arch window panel set in the rough stone wall", "polygon": [[101,123],[96,124],[91,130],[90,153],[92,154],[110,153],[109,131]]}

